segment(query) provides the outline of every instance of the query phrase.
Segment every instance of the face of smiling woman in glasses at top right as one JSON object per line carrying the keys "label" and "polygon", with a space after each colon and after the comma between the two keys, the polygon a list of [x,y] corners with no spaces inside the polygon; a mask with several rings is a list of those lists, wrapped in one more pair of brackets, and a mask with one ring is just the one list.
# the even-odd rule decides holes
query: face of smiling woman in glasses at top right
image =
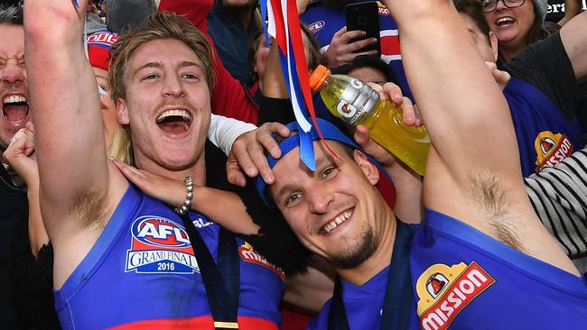
{"label": "face of smiling woman in glasses at top right", "polygon": [[498,1],[493,12],[485,14],[491,31],[495,32],[500,43],[527,43],[528,33],[535,20],[534,2],[526,0],[524,5],[508,8]]}

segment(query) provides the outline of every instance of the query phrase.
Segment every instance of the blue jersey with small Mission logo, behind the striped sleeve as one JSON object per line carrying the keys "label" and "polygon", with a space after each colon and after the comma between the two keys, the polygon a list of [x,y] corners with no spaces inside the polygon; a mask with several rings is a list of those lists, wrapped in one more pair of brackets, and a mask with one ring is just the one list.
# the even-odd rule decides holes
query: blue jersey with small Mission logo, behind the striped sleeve
{"label": "blue jersey with small Mission logo, behind the striped sleeve", "polygon": [[536,87],[511,78],[503,93],[514,122],[524,177],[553,167],[581,147],[579,124],[569,123]]}

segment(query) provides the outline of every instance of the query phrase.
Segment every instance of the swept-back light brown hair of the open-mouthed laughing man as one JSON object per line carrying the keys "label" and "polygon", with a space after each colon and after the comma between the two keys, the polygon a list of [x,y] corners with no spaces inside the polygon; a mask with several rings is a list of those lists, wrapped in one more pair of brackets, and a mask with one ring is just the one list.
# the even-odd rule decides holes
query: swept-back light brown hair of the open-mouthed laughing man
{"label": "swept-back light brown hair of the open-mouthed laughing man", "polygon": [[112,46],[108,83],[111,88],[110,96],[115,102],[118,98],[126,96],[124,78],[128,61],[135,51],[149,41],[161,39],[182,41],[196,53],[201,61],[211,94],[215,83],[215,61],[206,36],[190,21],[178,14],[155,13],[147,17],[144,23],[136,26],[134,30],[123,34]]}

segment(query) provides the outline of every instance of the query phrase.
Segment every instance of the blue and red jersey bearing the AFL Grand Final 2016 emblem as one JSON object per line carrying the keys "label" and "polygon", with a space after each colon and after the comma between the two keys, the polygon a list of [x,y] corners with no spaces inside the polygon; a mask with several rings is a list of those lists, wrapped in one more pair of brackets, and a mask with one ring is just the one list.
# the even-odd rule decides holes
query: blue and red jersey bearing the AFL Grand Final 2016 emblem
{"label": "blue and red jersey bearing the AFL Grand Final 2016 emblem", "polygon": [[[217,256],[219,225],[190,213]],[[238,239],[240,329],[277,329],[284,273]],[[62,288],[64,329],[213,329],[198,262],[182,220],[130,186],[98,241]]]}

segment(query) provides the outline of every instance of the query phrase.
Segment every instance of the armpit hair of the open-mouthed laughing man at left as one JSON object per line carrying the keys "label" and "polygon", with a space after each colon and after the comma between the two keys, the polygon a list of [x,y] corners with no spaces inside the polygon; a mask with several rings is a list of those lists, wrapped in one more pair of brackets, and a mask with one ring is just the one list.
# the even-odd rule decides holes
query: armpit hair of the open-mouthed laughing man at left
{"label": "armpit hair of the open-mouthed laughing man at left", "polygon": [[82,188],[76,191],[70,215],[79,219],[84,228],[100,229],[105,225],[107,192],[102,188]]}

